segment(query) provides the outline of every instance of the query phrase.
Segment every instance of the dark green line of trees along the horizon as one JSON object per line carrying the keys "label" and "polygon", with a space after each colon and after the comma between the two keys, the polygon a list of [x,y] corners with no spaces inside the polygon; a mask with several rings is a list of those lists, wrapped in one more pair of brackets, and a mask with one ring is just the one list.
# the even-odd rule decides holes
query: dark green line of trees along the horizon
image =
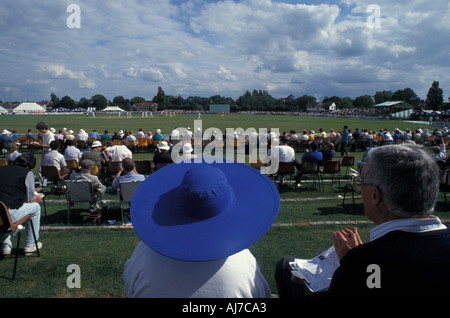
{"label": "dark green line of trees along the horizon", "polygon": [[[450,97],[448,98],[450,101]],[[64,96],[59,99],[54,93],[51,94],[50,106],[52,108],[68,108],[77,107],[88,108],[96,107],[102,110],[108,105],[117,105],[124,110],[132,110],[133,105],[145,102],[146,99],[140,96],[131,99],[123,96],[116,96],[113,100],[108,100],[105,96],[97,94],[90,99],[81,98],[78,102],[74,101],[70,96]],[[370,108],[375,104],[386,101],[405,101],[414,108],[425,107],[426,109],[443,110],[449,109],[450,103],[444,103],[443,90],[439,88],[439,82],[434,81],[428,90],[425,100],[420,99],[411,88],[399,89],[392,91],[377,91],[374,96],[361,95],[356,98],[331,96],[324,97],[320,101],[323,103],[335,103],[337,109],[348,108]],[[159,110],[164,109],[183,109],[202,111],[208,110],[209,104],[229,104],[232,112],[236,111],[306,111],[308,105],[318,102],[314,96],[303,95],[295,97],[290,94],[287,97],[275,98],[265,90],[256,90],[252,92],[246,91],[236,100],[231,97],[221,95],[213,95],[210,97],[189,96],[183,98],[181,95],[166,95],[162,87],[158,87],[157,94],[151,102],[158,104]]]}

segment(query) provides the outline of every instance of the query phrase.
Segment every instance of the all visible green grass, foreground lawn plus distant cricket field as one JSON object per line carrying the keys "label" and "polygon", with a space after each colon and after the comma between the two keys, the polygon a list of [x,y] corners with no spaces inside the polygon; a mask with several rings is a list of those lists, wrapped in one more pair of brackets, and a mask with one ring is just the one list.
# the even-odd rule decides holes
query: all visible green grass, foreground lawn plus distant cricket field
{"label": "all visible green grass, foreground lawn plus distant cricket field", "polygon": [[[66,127],[77,132],[80,128],[109,131],[139,128],[154,131],[160,128],[170,133],[173,127],[194,128],[197,115],[176,115],[175,117],[135,118],[116,115],[97,115],[96,118],[80,115],[7,115],[0,116],[2,129],[16,129],[24,134],[28,128],[34,129],[38,121],[45,121],[49,127]],[[278,128],[280,132],[294,129],[318,130],[323,128],[341,129],[416,128],[417,124],[400,121],[365,121],[345,118],[320,118],[270,115],[202,115],[202,128]],[[297,153],[300,157],[302,153]],[[353,152],[356,161],[361,151]],[[133,154],[135,159],[151,159],[151,152]],[[2,156],[4,157],[4,155]],[[40,159],[40,155],[37,156]],[[337,157],[336,159],[340,159]],[[341,183],[343,185],[344,183]],[[274,270],[276,262],[285,255],[310,258],[331,245],[331,233],[345,227],[358,226],[363,240],[367,241],[372,224],[364,216],[362,201],[357,198],[353,207],[351,200],[342,205],[343,188],[337,184],[325,183],[324,191],[313,184],[304,184],[301,191],[295,187],[280,189],[281,208],[272,228],[258,242],[250,247],[257,258],[261,270],[276,294]],[[108,189],[104,197],[108,207],[117,208],[117,195]],[[66,227],[67,207],[64,196],[46,197],[47,216],[42,217],[41,238],[44,248],[41,257],[19,259],[17,277],[11,281],[13,259],[0,258],[0,297],[3,298],[123,298],[122,271],[125,261],[131,256],[139,238],[132,228],[116,226],[73,225]],[[77,210],[76,210],[77,211]],[[85,210],[79,210],[81,213]],[[75,216],[77,217],[77,212]],[[436,215],[448,219],[448,207],[440,194]],[[78,216],[81,220],[81,216]],[[13,238],[13,243],[16,238]],[[23,242],[23,241],[22,241]],[[22,243],[23,244],[23,243]],[[70,273],[67,267],[77,264],[81,269],[81,288],[69,288],[66,280]]]}

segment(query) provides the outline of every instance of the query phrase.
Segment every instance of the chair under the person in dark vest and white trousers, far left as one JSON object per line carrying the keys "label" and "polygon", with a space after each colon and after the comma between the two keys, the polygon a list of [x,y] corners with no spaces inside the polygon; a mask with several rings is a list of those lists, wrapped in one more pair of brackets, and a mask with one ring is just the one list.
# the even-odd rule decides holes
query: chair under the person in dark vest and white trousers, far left
{"label": "chair under the person in dark vest and white trousers, far left", "polygon": [[7,206],[0,201],[0,233],[12,233],[12,235],[17,234],[17,243],[16,243],[16,252],[14,258],[14,269],[12,280],[16,278],[16,270],[17,270],[17,260],[19,257],[19,244],[20,244],[20,233],[23,229],[22,224],[29,223],[31,229],[33,230],[34,244],[36,244],[36,254],[37,256],[41,256],[39,254],[39,247],[36,239],[36,232],[34,231],[33,221],[30,219],[30,215],[26,215],[21,218],[19,221],[14,223],[11,219],[11,214]]}

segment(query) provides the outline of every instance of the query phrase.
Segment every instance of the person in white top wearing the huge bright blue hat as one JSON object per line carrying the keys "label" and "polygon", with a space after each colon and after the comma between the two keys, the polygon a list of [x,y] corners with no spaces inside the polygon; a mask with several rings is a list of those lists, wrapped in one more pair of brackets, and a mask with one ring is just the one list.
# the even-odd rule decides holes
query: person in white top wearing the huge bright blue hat
{"label": "person in white top wearing the huge bright blue hat", "polygon": [[125,264],[127,296],[270,297],[248,247],[279,207],[273,182],[245,164],[192,161],[159,169],[131,202],[142,241]]}

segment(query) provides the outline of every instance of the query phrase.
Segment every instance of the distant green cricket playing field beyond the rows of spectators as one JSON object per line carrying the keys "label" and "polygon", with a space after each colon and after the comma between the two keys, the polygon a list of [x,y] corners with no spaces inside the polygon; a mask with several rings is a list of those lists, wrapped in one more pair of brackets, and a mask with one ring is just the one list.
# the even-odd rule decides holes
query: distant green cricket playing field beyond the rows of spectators
{"label": "distant green cricket playing field beyond the rows of spectators", "polygon": [[[56,131],[63,127],[73,130],[75,133],[81,128],[91,132],[96,129],[103,132],[105,129],[110,133],[114,131],[132,130],[134,133],[139,128],[144,131],[154,131],[159,128],[163,133],[169,134],[174,127],[191,127],[194,129],[195,121],[198,116],[195,114],[177,114],[174,117],[161,116],[155,114],[153,118],[142,118],[140,114],[133,115],[133,118],[127,118],[126,115],[118,117],[116,114],[97,114],[95,118],[86,117],[84,115],[3,115],[0,116],[0,128],[12,131],[16,129],[18,133],[25,134],[27,129],[33,129],[37,133],[35,126],[39,121],[44,121],[49,127],[54,127]],[[198,123],[200,125],[200,123]],[[374,129],[382,128],[393,130],[399,129],[415,129],[417,124],[404,121],[387,121],[387,120],[361,120],[355,118],[328,118],[328,117],[309,117],[309,116],[287,116],[287,115],[240,115],[225,114],[203,114],[201,116],[201,127],[203,130],[207,128],[218,128],[225,133],[226,128],[266,128],[268,130],[277,128],[280,132],[289,132],[291,129],[301,133],[304,129],[315,130],[323,128],[329,132],[331,128],[336,131],[342,129],[344,125],[348,125],[351,130],[355,128]]]}

